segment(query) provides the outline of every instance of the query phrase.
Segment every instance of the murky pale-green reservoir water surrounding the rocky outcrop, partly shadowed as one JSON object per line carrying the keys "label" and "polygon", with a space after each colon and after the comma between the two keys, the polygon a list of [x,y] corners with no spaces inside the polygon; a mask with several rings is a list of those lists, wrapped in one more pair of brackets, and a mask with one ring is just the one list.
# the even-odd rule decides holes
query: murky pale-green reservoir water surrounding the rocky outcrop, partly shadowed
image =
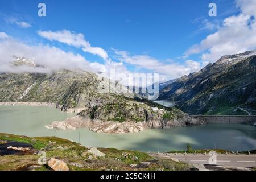
{"label": "murky pale-green reservoir water surrounding the rocky outcrop, partly shadowed", "polygon": [[52,121],[72,117],[51,107],[0,106],[0,133],[56,136],[85,146],[114,147],[151,152],[185,150],[187,143],[195,149],[222,148],[247,151],[256,148],[256,127],[241,124],[212,124],[175,129],[153,129],[130,134],[97,134],[88,129],[75,131],[49,130]]}

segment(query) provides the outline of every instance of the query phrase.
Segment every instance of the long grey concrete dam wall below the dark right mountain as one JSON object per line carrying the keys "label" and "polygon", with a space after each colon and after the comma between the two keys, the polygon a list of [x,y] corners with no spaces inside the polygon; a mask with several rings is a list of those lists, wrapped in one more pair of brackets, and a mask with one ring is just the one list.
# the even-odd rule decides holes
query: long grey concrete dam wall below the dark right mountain
{"label": "long grey concrete dam wall below the dark right mountain", "polygon": [[193,115],[202,119],[205,123],[246,123],[254,125],[256,115]]}

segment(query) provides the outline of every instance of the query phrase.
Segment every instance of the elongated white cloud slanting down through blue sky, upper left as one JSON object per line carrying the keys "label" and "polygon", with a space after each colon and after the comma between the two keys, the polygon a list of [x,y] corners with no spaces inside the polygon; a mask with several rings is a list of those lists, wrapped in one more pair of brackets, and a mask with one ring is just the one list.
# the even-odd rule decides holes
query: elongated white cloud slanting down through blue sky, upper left
{"label": "elongated white cloud slanting down through blue sky, upper left", "polygon": [[75,46],[77,48],[82,48],[83,51],[92,53],[93,55],[98,55],[104,60],[108,60],[109,56],[106,51],[100,47],[92,47],[90,43],[85,40],[83,34],[76,34],[69,30],[61,31],[38,31],[38,34],[43,38],[51,41],[58,41],[61,43],[68,44],[69,46]]}

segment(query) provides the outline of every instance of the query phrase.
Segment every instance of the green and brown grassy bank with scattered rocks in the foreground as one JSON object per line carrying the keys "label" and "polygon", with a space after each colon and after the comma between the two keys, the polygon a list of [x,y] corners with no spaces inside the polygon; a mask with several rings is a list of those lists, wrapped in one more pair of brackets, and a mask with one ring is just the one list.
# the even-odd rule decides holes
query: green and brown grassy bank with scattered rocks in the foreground
{"label": "green and brown grassy bank with scattered rocks in the foreground", "polygon": [[[172,160],[155,160],[140,151],[118,150],[115,148],[98,148],[105,156],[89,159],[88,148],[67,139],[56,137],[25,137],[11,134],[0,134],[1,141],[9,140],[31,144],[38,150],[46,152],[46,158],[56,158],[67,163],[69,169],[74,171],[94,170],[190,170],[189,164],[177,163]],[[56,147],[67,147],[57,150]],[[127,156],[127,157],[126,157]],[[39,155],[5,155],[0,156],[1,170],[26,170],[32,165],[38,165]],[[130,164],[151,162],[146,168],[132,168]],[[76,163],[76,164],[74,164]],[[79,166],[77,166],[79,164]],[[47,166],[35,168],[36,171],[51,170]]]}

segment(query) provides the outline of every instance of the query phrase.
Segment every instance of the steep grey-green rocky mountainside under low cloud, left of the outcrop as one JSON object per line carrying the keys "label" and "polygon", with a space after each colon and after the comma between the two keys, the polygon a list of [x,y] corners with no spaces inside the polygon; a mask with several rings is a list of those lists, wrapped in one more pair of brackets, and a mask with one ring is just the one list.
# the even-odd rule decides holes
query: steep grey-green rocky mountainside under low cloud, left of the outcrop
{"label": "steep grey-green rocky mountainside under low cloud, left of the outcrop", "polygon": [[[63,111],[82,109],[115,97],[99,93],[101,80],[84,71],[0,74],[0,102],[50,102]],[[122,94],[122,93],[119,93]],[[117,93],[118,95],[118,93]],[[133,98],[134,94],[122,94]]]}

